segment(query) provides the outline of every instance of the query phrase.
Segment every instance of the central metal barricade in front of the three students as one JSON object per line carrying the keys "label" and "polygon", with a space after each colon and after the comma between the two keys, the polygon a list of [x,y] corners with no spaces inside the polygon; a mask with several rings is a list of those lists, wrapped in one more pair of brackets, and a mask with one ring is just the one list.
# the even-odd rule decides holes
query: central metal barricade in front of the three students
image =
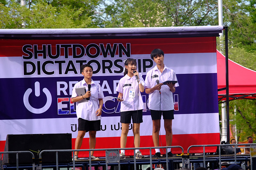
{"label": "central metal barricade in front of the three students", "polygon": [[[184,149],[181,146],[165,146],[165,147],[142,147],[142,148],[110,148],[110,149],[70,149],[70,150],[43,150],[39,154],[39,159],[42,159],[42,153],[44,152],[56,152],[56,168],[59,168],[59,160],[58,160],[58,152],[72,152],[73,158],[75,157],[75,151],[87,151],[89,152],[89,165],[90,169],[92,169],[92,160],[91,160],[91,152],[90,151],[105,151],[106,153],[106,167],[108,167],[108,163],[118,163],[118,169],[120,170],[120,158],[119,158],[119,151],[120,150],[133,150],[134,153],[134,169],[136,170],[136,157],[135,157],[135,149],[149,149],[149,155],[150,155],[150,170],[152,170],[152,154],[151,150],[152,149],[166,149],[167,153],[167,148],[180,148],[182,151],[182,167],[184,167]],[[117,159],[116,159],[117,158]],[[112,160],[111,160],[112,159]],[[39,165],[40,168],[42,169],[42,164]],[[168,166],[168,155],[166,154],[166,167],[167,170],[169,170]],[[73,169],[75,169],[75,159],[73,159]]]}

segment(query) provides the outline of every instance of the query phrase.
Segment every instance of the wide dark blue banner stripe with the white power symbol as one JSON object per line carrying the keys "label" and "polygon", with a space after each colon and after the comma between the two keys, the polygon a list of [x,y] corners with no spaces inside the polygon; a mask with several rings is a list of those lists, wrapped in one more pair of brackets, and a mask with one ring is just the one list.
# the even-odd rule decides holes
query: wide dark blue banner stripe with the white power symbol
{"label": "wide dark blue banner stripe with the white power symbol", "polygon": [[[0,120],[76,117],[70,97],[73,86],[82,78],[1,78]],[[105,97],[117,97],[114,88],[120,78],[122,76],[95,76],[92,79],[100,81]],[[180,86],[174,94],[178,94],[179,110],[174,114],[218,113],[217,73],[178,74],[177,78]],[[142,97],[144,102],[148,100],[145,92]],[[37,113],[32,113],[28,107],[33,107]],[[116,100],[106,101],[102,110],[102,116],[120,116],[120,104]],[[148,107],[143,115],[150,115]]]}

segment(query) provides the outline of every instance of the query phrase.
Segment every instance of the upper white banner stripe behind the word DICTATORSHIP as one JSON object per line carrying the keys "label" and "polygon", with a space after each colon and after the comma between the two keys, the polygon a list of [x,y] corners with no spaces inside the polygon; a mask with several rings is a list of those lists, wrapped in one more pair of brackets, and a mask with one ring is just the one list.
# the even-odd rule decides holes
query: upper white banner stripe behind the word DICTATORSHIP
{"label": "upper white banner stripe behind the word DICTATORSHIP", "polygon": [[[116,67],[114,64],[115,60],[122,60],[126,59],[127,57],[120,58],[117,55],[114,58],[103,58],[102,55],[98,56],[95,60],[102,62],[102,60],[106,60],[108,62],[105,63],[106,67],[110,65],[109,61],[112,62],[113,66],[111,67],[111,70],[113,73],[109,73],[108,69],[102,69],[100,68],[100,72],[94,74],[93,76],[122,76],[123,72],[121,73],[114,73],[114,70],[118,71],[120,68]],[[131,58],[134,59],[141,59],[140,68],[146,68],[145,65],[149,65],[150,62],[146,61],[145,59],[150,59],[150,54],[142,54],[142,55],[131,55]],[[145,60],[143,62],[143,59]],[[0,57],[0,63],[2,64],[0,68],[0,78],[38,78],[38,77],[60,77],[60,76],[66,76],[66,77],[78,77],[81,76],[80,73],[80,67],[79,63],[76,62],[76,59],[69,59],[69,61],[72,61],[72,64],[74,64],[75,69],[77,71],[77,74],[75,74],[73,71],[68,71],[67,74],[64,74],[66,70],[70,69],[72,67],[72,64],[68,63],[66,61],[65,63],[56,63],[57,61],[65,61],[67,59],[64,58],[64,56],[59,57],[56,60],[45,60],[42,57],[38,57],[38,59],[30,59],[30,60],[24,60],[22,57]],[[91,60],[91,58],[88,58],[87,56],[84,56],[82,58],[79,58],[79,60]],[[51,61],[52,63],[45,63],[45,62]],[[23,62],[28,62],[27,64],[24,64]],[[144,65],[143,65],[144,63]],[[143,75],[147,74],[147,71],[152,69],[156,63],[152,62],[153,66],[151,68],[147,68],[143,71],[141,69],[141,73]],[[216,53],[185,53],[185,54],[165,54],[164,55],[164,63],[167,67],[173,69],[176,74],[192,74],[192,73],[217,73],[217,59],[216,59]],[[124,67],[123,62],[117,62],[116,64]],[[93,67],[93,70],[97,70],[98,66],[96,63],[91,64]],[[137,65],[139,65],[137,63]],[[103,66],[103,63],[100,63],[100,66]],[[119,67],[120,67],[119,66]],[[181,67],[182,66],[182,67]],[[24,75],[24,68],[26,67],[26,72],[34,72],[31,75]],[[33,68],[34,67],[34,68]],[[44,68],[42,68],[44,67]],[[139,66],[137,66],[139,67]],[[61,73],[58,71],[61,68]],[[35,69],[34,71],[32,71]],[[37,75],[38,69],[40,70],[40,75]],[[46,75],[42,69],[46,70],[47,72],[54,71],[54,74],[52,75]],[[102,71],[106,71],[103,73]],[[15,74],[13,74],[15,72]]]}

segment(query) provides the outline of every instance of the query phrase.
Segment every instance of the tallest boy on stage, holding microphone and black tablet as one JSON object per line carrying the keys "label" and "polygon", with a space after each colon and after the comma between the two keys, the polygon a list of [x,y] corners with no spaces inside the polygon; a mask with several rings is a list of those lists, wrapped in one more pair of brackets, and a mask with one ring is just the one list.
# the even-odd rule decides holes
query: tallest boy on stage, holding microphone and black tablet
{"label": "tallest boy on stage, holding microphone and black tablet", "polygon": [[[177,80],[175,71],[166,67],[164,64],[164,52],[161,49],[154,49],[150,57],[156,63],[156,66],[147,72],[145,78],[146,90],[148,95],[148,108],[150,109],[153,122],[152,138],[155,147],[159,146],[160,120],[163,114],[166,145],[172,145],[172,119],[174,119],[174,103],[172,93],[179,86],[178,83],[163,84],[165,81]],[[155,149],[153,158],[161,157],[160,149]],[[167,149],[168,157],[175,156],[171,148]]]}

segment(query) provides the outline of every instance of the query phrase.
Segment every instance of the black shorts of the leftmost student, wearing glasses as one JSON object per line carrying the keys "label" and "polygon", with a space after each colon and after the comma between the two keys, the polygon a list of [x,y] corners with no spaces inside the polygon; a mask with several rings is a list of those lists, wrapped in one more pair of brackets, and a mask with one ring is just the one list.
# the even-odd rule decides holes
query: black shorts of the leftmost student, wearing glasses
{"label": "black shorts of the leftmost student, wearing glasses", "polygon": [[100,130],[100,120],[88,121],[82,118],[78,118],[78,131],[99,131]]}

